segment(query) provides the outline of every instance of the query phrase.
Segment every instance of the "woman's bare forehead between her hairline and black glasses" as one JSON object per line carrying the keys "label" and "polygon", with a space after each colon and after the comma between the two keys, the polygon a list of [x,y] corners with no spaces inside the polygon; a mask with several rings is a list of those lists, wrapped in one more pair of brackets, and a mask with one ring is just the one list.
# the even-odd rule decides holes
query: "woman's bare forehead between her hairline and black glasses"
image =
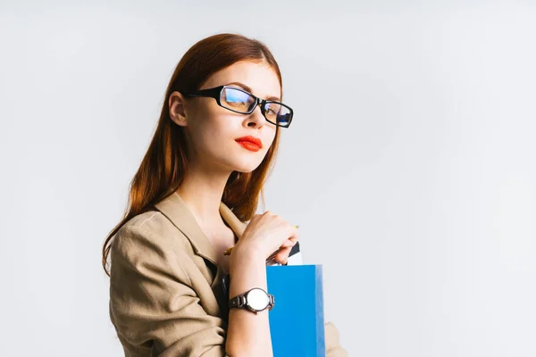
{"label": "woman's bare forehead between her hairline and black glasses", "polygon": [[267,98],[281,98],[281,86],[277,73],[266,62],[240,61],[215,72],[206,80],[202,88],[222,86],[231,82],[240,82],[251,88],[254,95]]}

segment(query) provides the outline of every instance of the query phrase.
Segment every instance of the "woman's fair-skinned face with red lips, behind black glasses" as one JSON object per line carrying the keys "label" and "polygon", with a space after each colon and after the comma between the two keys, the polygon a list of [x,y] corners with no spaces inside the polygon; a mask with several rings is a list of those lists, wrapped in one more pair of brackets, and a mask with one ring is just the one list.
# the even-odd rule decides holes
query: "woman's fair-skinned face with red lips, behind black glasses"
{"label": "woman's fair-skinned face with red lips, behind black glasses", "polygon": [[[281,86],[275,71],[265,62],[236,62],[214,73],[199,89],[230,85],[247,90],[261,99],[279,101]],[[263,161],[272,145],[276,126],[264,119],[260,106],[251,114],[230,112],[214,98],[185,97],[178,92],[170,96],[172,120],[187,131],[193,166],[250,172]],[[248,150],[239,144],[239,137],[261,140],[262,148]],[[247,146],[247,145],[246,145]]]}

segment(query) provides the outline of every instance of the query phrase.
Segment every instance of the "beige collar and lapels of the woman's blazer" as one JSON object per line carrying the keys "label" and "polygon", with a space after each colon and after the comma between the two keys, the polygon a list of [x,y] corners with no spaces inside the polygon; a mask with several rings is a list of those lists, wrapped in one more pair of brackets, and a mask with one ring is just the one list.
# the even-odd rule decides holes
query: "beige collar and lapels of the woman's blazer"
{"label": "beige collar and lapels of the woman's blazer", "polygon": [[[171,220],[173,225],[177,227],[190,241],[197,255],[217,264],[217,257],[222,252],[215,252],[213,245],[205,236],[203,229],[199,227],[196,218],[189,210],[188,205],[182,200],[180,195],[174,191],[159,203],[155,204],[155,208]],[[230,211],[225,203],[220,203],[220,214],[222,219],[229,225],[238,238],[242,236],[246,223]]]}

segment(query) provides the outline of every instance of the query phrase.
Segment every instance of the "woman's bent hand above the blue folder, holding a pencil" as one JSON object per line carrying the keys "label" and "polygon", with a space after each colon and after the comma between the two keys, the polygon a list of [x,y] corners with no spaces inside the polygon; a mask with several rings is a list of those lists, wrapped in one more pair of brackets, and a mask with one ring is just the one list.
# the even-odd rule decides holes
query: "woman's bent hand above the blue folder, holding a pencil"
{"label": "woman's bent hand above the blue folder, holding a pencil", "polygon": [[274,260],[285,264],[298,238],[297,228],[280,216],[270,211],[255,214],[233,248],[230,258],[234,260],[239,257],[255,257],[265,261],[272,253],[279,250]]}

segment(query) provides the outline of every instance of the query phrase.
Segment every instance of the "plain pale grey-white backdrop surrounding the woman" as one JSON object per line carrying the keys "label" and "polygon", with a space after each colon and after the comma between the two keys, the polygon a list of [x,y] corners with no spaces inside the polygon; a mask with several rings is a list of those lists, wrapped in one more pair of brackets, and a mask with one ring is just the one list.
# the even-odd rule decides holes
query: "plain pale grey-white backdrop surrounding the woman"
{"label": "plain pale grey-white backdrop surrounding the woman", "polygon": [[121,356],[105,235],[180,57],[264,41],[296,112],[266,205],[350,356],[536,355],[536,4],[0,5],[3,356]]}

